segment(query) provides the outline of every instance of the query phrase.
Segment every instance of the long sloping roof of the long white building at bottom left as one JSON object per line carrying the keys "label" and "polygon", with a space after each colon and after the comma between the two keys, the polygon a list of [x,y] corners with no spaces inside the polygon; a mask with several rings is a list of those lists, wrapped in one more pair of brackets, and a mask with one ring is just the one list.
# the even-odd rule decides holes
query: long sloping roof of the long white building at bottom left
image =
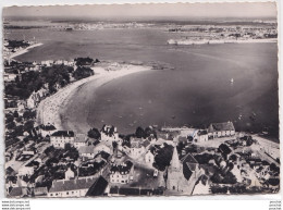
{"label": "long sloping roof of the long white building at bottom left", "polygon": [[88,189],[96,182],[96,180],[97,178],[88,177],[70,181],[53,181],[49,193]]}

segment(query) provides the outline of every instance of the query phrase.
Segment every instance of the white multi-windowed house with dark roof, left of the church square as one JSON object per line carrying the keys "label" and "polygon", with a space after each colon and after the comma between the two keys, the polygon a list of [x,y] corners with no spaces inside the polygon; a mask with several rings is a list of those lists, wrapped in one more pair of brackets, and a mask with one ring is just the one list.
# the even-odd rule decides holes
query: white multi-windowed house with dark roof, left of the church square
{"label": "white multi-windowed house with dark roof, left of the church square", "polygon": [[113,164],[110,169],[110,183],[126,184],[134,173],[134,164],[130,160],[122,164]]}

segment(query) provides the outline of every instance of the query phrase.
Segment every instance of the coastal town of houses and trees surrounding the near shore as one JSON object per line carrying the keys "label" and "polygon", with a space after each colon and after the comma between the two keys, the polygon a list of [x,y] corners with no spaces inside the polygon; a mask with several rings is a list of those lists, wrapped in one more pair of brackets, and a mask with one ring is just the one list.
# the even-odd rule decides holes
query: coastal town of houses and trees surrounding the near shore
{"label": "coastal town of houses and trees surrounding the near shore", "polygon": [[[242,30],[235,29],[230,33]],[[171,30],[183,30],[183,27]],[[272,28],[261,33],[276,36]],[[259,36],[255,34],[247,36]],[[211,123],[206,128],[137,126],[133,134],[120,134],[115,125],[104,124],[89,127],[87,133],[76,133],[61,129],[50,118],[39,120],[38,107],[42,101],[71,84],[94,76],[93,66],[100,61],[13,59],[14,53],[35,45],[38,44],[4,40],[8,197],[279,192],[279,144],[236,131],[231,121]]]}

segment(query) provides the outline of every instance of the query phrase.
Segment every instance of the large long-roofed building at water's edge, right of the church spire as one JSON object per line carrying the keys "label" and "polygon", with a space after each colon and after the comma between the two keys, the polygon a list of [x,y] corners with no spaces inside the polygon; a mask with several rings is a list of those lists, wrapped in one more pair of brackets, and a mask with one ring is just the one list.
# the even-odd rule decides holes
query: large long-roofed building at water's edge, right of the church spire
{"label": "large long-roofed building at water's edge, right of the church spire", "polygon": [[211,123],[208,127],[209,138],[221,138],[235,135],[235,127],[232,122]]}

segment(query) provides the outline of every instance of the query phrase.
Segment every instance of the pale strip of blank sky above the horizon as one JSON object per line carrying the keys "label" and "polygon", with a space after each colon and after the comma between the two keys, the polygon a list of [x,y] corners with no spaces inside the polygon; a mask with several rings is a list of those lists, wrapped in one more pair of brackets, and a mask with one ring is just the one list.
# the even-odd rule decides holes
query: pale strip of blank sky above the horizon
{"label": "pale strip of blank sky above the horizon", "polygon": [[274,2],[10,7],[4,17],[276,17]]}

